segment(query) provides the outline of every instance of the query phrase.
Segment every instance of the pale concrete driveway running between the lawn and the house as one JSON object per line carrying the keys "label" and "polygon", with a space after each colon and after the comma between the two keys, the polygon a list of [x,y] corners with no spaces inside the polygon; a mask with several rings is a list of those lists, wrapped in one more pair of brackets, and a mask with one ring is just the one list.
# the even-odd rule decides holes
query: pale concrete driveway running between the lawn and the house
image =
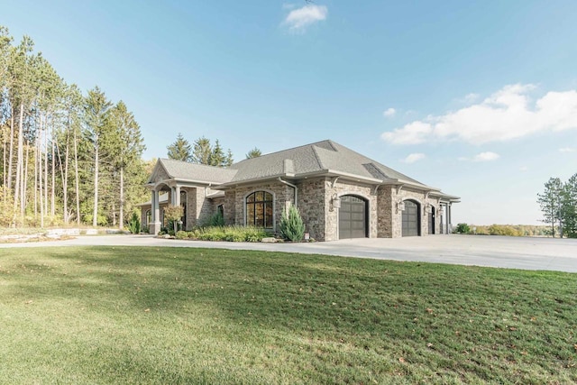
{"label": "pale concrete driveway running between the lawn and the house", "polygon": [[[577,272],[577,240],[480,235],[433,235],[398,239],[351,239],[319,243],[228,243],[179,241],[151,235],[79,236],[67,241],[5,243],[7,247],[52,246],[149,246],[206,247],[231,250],[301,252],[375,258],[395,261],[426,261],[523,270]],[[0,251],[0,258],[2,252]]]}

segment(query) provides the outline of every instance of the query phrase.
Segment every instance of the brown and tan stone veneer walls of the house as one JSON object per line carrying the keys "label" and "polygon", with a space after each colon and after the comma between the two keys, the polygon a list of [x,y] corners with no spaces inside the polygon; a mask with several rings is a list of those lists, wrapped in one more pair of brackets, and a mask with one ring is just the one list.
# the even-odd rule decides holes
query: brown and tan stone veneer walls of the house
{"label": "brown and tan stone veneer walls of the house", "polygon": [[[338,207],[333,206],[334,197],[353,195],[362,197],[368,205],[368,234],[370,238],[398,238],[402,236],[402,212],[398,202],[411,199],[420,207],[421,235],[428,235],[428,215],[426,203],[435,207],[435,234],[441,234],[441,215],[438,215],[440,202],[436,197],[412,188],[395,186],[370,186],[360,182],[334,178],[301,179],[298,187],[298,209],[306,226],[307,233],[317,241],[335,241],[339,239]],[[187,230],[196,225],[203,225],[216,212],[217,206],[224,205],[224,222],[226,225],[244,225],[245,202],[247,195],[254,191],[272,193],[274,231],[278,233],[282,211],[294,203],[294,188],[279,181],[270,181],[260,185],[232,188],[224,191],[224,197],[206,198],[209,188],[181,188],[187,192]],[[170,193],[169,193],[170,202]],[[160,207],[160,211],[165,205]],[[145,221],[146,209],[142,207],[142,222]]]}

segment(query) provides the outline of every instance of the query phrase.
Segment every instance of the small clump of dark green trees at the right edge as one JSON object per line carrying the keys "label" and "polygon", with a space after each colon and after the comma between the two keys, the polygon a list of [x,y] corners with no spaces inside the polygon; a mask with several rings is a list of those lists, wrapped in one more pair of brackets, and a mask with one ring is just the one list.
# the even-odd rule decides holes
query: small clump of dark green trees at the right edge
{"label": "small clump of dark green trees at the right edge", "polygon": [[551,178],[545,183],[543,193],[537,194],[537,202],[543,212],[543,222],[555,226],[560,237],[577,238],[577,174],[566,182]]}

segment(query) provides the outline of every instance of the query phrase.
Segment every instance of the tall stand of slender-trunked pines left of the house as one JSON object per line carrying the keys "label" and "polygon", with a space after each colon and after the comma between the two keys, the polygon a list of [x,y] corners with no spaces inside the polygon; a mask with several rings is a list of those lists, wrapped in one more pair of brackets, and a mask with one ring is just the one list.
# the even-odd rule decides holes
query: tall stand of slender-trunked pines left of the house
{"label": "tall stand of slender-trunked pines left of the house", "polygon": [[99,87],[83,94],[0,26],[0,226],[123,227],[151,166],[139,124]]}

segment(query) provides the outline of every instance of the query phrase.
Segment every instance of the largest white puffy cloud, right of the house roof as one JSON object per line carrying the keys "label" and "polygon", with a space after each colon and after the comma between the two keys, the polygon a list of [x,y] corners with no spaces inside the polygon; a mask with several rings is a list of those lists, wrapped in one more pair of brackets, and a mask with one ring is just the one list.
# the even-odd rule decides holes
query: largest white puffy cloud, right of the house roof
{"label": "largest white puffy cloud, right of the house roof", "polygon": [[531,133],[577,128],[577,90],[550,91],[532,105],[534,85],[506,86],[481,103],[445,115],[428,116],[381,138],[393,144],[460,140],[473,144],[505,142]]}

